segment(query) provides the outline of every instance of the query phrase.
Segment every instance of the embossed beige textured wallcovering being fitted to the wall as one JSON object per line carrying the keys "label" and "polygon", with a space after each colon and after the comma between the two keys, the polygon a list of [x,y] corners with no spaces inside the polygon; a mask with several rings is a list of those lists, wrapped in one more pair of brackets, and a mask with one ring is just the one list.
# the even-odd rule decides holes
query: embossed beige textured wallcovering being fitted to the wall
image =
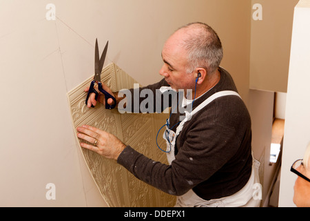
{"label": "embossed beige textured wallcovering being fitted to the wall", "polygon": [[[167,163],[166,155],[156,147],[156,133],[167,119],[167,114],[130,114],[118,113],[118,110],[106,110],[102,104],[95,108],[85,105],[84,88],[90,85],[90,77],[68,93],[68,102],[72,115],[74,131],[76,127],[89,124],[116,135],[125,144],[135,148],[152,160]],[[101,73],[102,81],[112,91],[133,88],[134,79],[127,75],[116,64],[109,64]],[[80,143],[76,137],[76,144]],[[158,144],[165,147],[162,135],[158,135]],[[176,198],[163,193],[136,179],[123,166],[114,160],[108,160],[97,153],[81,146],[85,163],[103,199],[109,206],[174,206]]]}

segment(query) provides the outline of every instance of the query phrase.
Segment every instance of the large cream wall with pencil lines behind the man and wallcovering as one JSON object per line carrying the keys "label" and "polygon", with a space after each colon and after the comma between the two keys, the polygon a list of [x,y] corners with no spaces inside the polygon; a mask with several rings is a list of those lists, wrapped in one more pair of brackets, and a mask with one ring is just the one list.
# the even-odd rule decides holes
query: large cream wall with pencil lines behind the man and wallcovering
{"label": "large cream wall with pencil lines behind the man and wallcovering", "polygon": [[[45,18],[48,3],[56,20]],[[74,142],[66,93],[94,73],[94,41],[141,84],[161,77],[161,48],[179,26],[209,23],[221,64],[247,103],[247,0],[1,0],[0,206],[105,206]],[[45,185],[56,185],[47,200]]]}

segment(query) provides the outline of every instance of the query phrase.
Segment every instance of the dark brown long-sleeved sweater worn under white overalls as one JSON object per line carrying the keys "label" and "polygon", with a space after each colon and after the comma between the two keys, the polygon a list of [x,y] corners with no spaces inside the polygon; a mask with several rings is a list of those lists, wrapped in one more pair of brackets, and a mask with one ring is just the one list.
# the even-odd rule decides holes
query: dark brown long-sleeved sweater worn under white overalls
{"label": "dark brown long-sleeved sweater worn under white overalls", "polygon": [[[220,81],[195,99],[193,110],[218,91],[237,91],[229,73],[223,68],[219,70]],[[163,79],[145,88],[155,95],[161,86],[169,85]],[[170,125],[179,120],[180,113],[172,113]],[[176,131],[176,126],[172,130]],[[219,97],[198,111],[184,124],[176,137],[175,148],[176,159],[171,165],[154,163],[131,146],[124,149],[117,162],[138,179],[172,195],[183,195],[193,189],[200,198],[211,200],[238,192],[249,180],[252,165],[251,119],[242,99]]]}

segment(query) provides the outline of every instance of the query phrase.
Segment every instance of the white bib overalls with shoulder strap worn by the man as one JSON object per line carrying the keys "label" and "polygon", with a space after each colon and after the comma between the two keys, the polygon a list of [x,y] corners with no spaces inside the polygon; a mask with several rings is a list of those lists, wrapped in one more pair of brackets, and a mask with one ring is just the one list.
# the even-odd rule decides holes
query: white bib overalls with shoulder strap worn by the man
{"label": "white bib overalls with shoulder strap worn by the man", "polygon": [[[188,113],[185,111],[185,119],[183,119],[182,122],[178,125],[176,128],[176,133],[174,131],[170,131],[169,128],[166,126],[166,131],[168,130],[169,133],[166,133],[166,131],[163,133],[163,138],[166,140],[167,143],[167,160],[169,164],[172,163],[172,161],[175,159],[174,156],[174,145],[176,142],[176,137],[180,134],[180,131],[182,131],[183,125],[185,122],[190,120],[192,118],[192,115],[200,111],[202,108],[207,106],[210,102],[212,102],[214,99],[222,96],[227,96],[227,95],[238,95],[235,91],[232,90],[224,90],[220,91],[218,93],[215,93],[214,95],[211,95],[203,103],[201,103],[199,106],[197,106],[191,113]],[[168,137],[169,138],[168,138]],[[168,142],[168,139],[170,143]],[[252,172],[251,172],[251,177],[249,178],[249,181],[247,184],[237,193],[234,195],[230,195],[224,198],[220,199],[214,199],[214,200],[203,200],[200,198],[194,191],[191,189],[184,195],[178,196],[176,200],[176,205],[175,206],[182,206],[182,207],[193,207],[193,206],[198,206],[198,207],[239,207],[239,206],[247,206],[247,207],[258,207],[260,206],[260,200],[261,197],[256,197],[254,193],[257,193],[257,191],[262,191],[260,188],[260,183],[259,183],[259,177],[258,177],[258,169],[260,166],[260,163],[254,159],[253,151],[252,151],[252,157],[253,157],[253,164],[252,164]],[[256,185],[254,185],[256,184]],[[258,184],[258,185],[257,185]],[[255,189],[254,189],[255,186]],[[260,188],[260,189],[257,189]],[[255,196],[255,197],[254,197]]]}

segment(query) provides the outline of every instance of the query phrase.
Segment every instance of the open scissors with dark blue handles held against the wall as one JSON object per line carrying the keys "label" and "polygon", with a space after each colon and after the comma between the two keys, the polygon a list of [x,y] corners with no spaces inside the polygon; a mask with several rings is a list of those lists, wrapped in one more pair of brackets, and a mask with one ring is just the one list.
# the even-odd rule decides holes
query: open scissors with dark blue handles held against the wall
{"label": "open scissors with dark blue handles held against the wall", "polygon": [[[95,74],[94,74],[94,79],[90,83],[90,89],[88,90],[87,97],[85,104],[87,105],[88,98],[90,97],[91,93],[95,93],[95,99],[98,99],[98,91],[94,89],[94,85],[98,84],[98,89],[103,95],[105,95],[105,109],[113,109],[116,106],[116,99],[110,93],[107,93],[107,91],[103,90],[102,88],[102,83],[101,83],[101,71],[103,68],[103,64],[105,63],[105,55],[107,55],[107,45],[109,41],[107,41],[107,44],[105,44],[105,49],[102,52],[101,58],[99,58],[99,48],[98,48],[98,41],[96,39],[96,48],[95,48]],[[113,104],[107,104],[107,99],[113,99]],[[92,108],[94,105],[92,105]]]}

